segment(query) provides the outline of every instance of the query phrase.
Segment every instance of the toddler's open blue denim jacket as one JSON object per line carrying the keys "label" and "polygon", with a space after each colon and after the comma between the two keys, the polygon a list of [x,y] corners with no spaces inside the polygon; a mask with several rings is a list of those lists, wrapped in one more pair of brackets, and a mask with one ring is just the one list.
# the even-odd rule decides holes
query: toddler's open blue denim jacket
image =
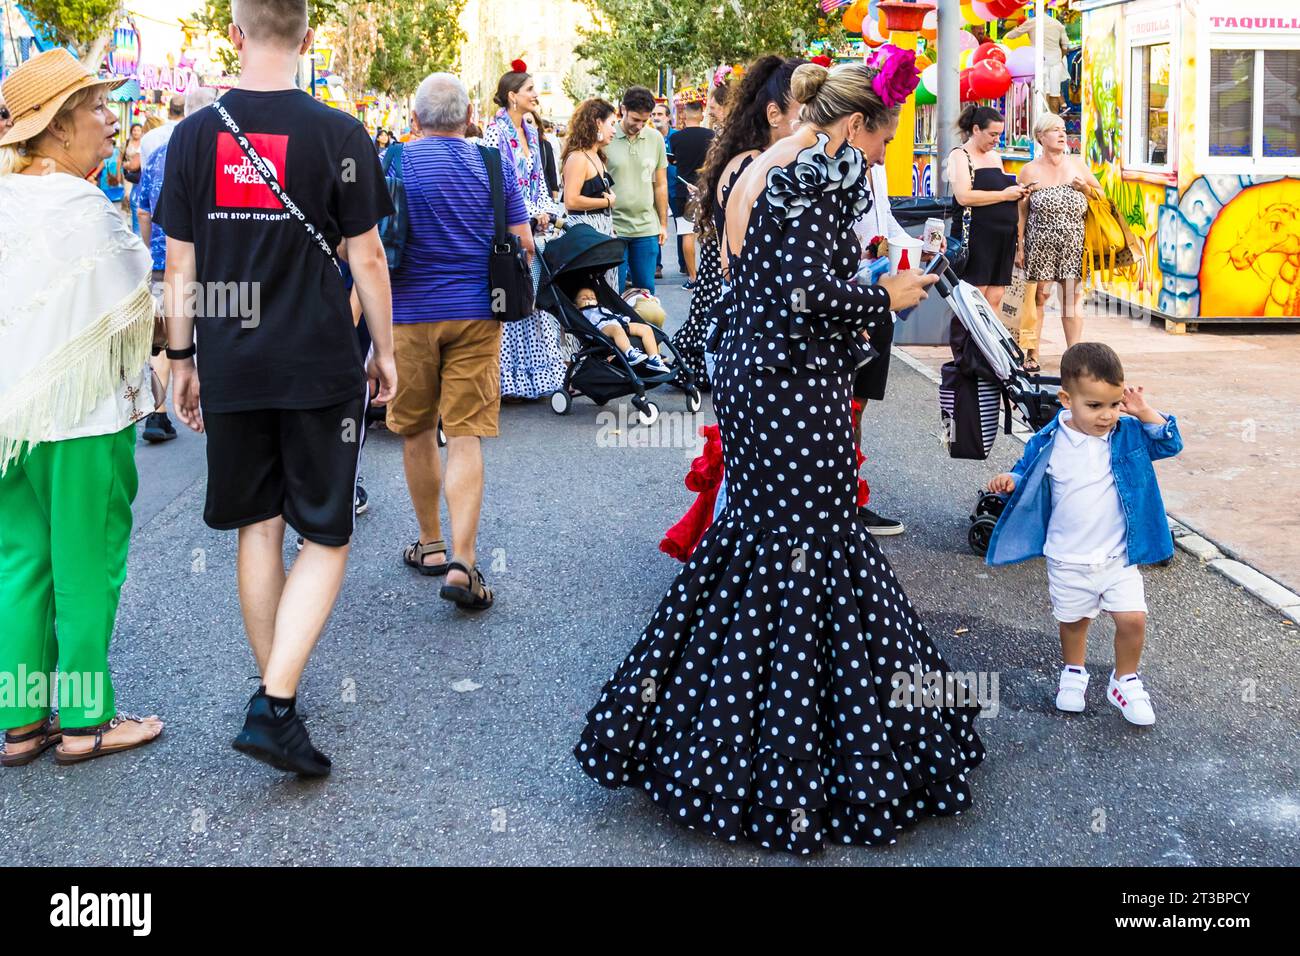
{"label": "toddler's open blue denim jacket", "polygon": [[[1024,455],[1011,473],[1015,492],[1002,509],[1001,518],[988,544],[989,564],[1014,564],[1041,558],[1052,520],[1052,486],[1048,462],[1058,428],[1065,428],[1061,415],[1030,438]],[[1165,502],[1156,483],[1152,462],[1173,458],[1183,450],[1183,438],[1173,415],[1164,425],[1148,425],[1122,415],[1110,436],[1110,470],[1115,490],[1128,525],[1128,564],[1153,564],[1174,553],[1174,538],[1165,518]]]}

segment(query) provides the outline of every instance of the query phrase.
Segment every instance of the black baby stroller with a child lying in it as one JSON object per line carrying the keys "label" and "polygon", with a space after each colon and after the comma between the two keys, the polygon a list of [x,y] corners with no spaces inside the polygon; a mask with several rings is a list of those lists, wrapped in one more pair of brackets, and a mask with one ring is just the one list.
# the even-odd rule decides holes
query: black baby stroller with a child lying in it
{"label": "black baby stroller with a child lying in it", "polygon": [[628,364],[628,359],[614,342],[601,334],[586,320],[573,298],[578,289],[595,291],[597,302],[629,323],[644,321],[636,310],[604,281],[608,269],[623,261],[623,239],[603,235],[586,222],[568,226],[559,237],[546,242],[541,254],[542,269],[537,284],[537,306],[554,315],[560,328],[578,342],[564,375],[564,388],[551,395],[551,410],[556,415],[568,414],[576,395],[586,395],[597,405],[612,398],[632,395],[638,424],[654,424],[659,406],[646,398],[646,393],[660,385],[670,385],[686,394],[686,408],[699,411],[702,398],[696,381],[681,360],[672,342],[662,329],[654,329],[655,341],[667,372],[654,373]]}

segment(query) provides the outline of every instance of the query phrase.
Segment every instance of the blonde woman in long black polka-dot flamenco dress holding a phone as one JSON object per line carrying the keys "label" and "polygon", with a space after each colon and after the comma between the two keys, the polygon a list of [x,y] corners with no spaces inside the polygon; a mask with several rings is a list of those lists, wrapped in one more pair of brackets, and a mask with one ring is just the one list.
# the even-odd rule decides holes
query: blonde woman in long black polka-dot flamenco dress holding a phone
{"label": "blonde woman in long black polka-dot flamenco dress holding a phone", "polygon": [[976,704],[923,696],[948,666],[855,506],[862,333],[930,284],[850,281],[871,202],[855,143],[887,114],[874,77],[796,70],[805,126],[736,185],[714,386],[727,510],[575,748],[597,783],[641,787],[685,826],[794,853],[959,813],[984,756]]}

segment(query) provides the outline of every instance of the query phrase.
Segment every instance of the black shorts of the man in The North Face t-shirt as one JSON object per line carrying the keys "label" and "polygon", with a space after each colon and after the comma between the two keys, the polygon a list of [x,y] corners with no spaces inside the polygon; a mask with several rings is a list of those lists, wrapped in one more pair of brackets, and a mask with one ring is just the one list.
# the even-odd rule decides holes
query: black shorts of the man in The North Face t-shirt
{"label": "black shorts of the man in The North Face t-shirt", "polygon": [[203,520],[233,531],[283,515],[308,541],[348,544],[368,394],[328,408],[205,411]]}

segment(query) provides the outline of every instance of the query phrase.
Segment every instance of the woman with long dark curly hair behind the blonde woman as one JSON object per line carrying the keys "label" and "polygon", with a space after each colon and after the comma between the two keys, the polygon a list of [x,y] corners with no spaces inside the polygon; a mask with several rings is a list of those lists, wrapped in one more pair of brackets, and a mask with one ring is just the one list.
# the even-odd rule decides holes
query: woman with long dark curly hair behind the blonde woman
{"label": "woman with long dark curly hair behind the blonde woman", "polygon": [[705,343],[714,321],[714,308],[723,294],[718,235],[727,221],[727,198],[736,178],[758,153],[794,131],[800,104],[790,96],[790,77],[802,62],[772,55],[759,57],[750,65],[731,98],[731,121],[708,147],[699,172],[699,213],[696,217],[699,272],[690,295],[690,312],[673,336],[672,345],[705,390],[710,386]]}

